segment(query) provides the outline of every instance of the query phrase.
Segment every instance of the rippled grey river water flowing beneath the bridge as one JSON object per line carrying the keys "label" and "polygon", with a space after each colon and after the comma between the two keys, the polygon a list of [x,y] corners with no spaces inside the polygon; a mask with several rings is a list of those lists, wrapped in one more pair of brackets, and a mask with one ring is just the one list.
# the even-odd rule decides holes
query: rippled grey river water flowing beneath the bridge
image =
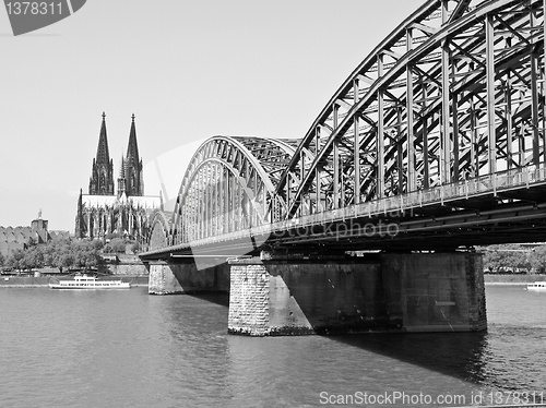
{"label": "rippled grey river water flowing beneath the bridge", "polygon": [[227,296],[0,289],[0,407],[546,403],[546,293],[486,296],[487,333],[252,338]]}

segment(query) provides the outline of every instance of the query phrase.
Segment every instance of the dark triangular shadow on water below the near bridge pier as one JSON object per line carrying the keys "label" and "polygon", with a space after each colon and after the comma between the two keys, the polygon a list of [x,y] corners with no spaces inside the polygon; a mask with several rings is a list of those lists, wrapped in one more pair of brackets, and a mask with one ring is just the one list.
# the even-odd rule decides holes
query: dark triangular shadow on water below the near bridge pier
{"label": "dark triangular shadow on water below the near bridge pier", "polygon": [[483,383],[487,332],[384,333],[324,336],[345,345],[472,383]]}

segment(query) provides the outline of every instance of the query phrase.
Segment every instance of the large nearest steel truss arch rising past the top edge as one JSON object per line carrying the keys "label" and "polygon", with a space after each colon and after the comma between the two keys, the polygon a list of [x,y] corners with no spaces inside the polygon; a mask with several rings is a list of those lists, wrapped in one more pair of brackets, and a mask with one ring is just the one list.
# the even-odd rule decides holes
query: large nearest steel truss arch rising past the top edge
{"label": "large nearest steel truss arch rising past the top edge", "polygon": [[273,220],[545,163],[543,0],[429,0],[329,100]]}

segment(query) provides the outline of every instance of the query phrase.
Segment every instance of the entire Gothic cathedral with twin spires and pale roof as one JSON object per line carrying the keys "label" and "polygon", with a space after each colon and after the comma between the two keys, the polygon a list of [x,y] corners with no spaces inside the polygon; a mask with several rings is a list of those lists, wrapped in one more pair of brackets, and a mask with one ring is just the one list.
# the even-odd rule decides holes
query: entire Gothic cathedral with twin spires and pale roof
{"label": "entire Gothic cathedral with twin spires and pale roof", "polygon": [[127,155],[121,157],[117,193],[114,191],[114,161],[108,152],[106,115],[98,136],[97,155],[93,159],[88,194],[80,190],[75,237],[108,239],[126,237],[141,241],[146,236],[149,218],[154,209],[163,209],[161,195],[144,195],[142,158],[136,144],[134,115]]}

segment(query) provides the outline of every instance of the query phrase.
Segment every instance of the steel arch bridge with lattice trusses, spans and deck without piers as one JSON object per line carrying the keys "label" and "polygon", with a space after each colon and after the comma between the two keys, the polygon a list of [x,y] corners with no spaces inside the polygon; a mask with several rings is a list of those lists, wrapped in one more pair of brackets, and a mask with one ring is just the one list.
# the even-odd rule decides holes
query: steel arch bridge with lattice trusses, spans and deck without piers
{"label": "steel arch bridge with lattice trusses, spans and deck without piers", "polygon": [[[241,231],[273,247],[344,249],[544,240],[544,9],[428,0],[301,139],[205,142],[169,231],[157,224],[168,244],[147,255],[235,242]],[[363,223],[381,233],[364,233]],[[341,225],[342,240],[331,229]]]}

